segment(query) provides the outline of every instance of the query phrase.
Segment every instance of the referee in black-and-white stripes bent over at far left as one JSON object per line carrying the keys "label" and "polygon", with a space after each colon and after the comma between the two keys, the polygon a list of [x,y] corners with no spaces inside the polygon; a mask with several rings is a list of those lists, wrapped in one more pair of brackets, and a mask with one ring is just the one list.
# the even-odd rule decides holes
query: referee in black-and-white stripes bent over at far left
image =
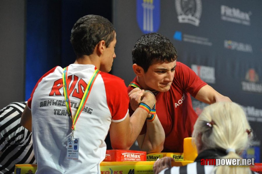
{"label": "referee in black-and-white stripes bent over at far left", "polygon": [[0,174],[14,173],[15,164],[36,164],[32,133],[20,125],[26,102],[0,110]]}

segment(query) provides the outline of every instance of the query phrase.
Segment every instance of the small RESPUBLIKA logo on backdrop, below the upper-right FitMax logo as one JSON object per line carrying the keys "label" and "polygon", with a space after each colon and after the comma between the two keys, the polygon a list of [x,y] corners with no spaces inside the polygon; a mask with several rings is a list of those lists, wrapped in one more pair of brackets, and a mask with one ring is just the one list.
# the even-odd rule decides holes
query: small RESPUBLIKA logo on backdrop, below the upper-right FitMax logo
{"label": "small RESPUBLIKA logo on backdrop, below the upper-right FitMax logo", "polygon": [[252,53],[252,46],[250,44],[244,44],[232,40],[224,40],[224,48],[229,50],[243,51]]}

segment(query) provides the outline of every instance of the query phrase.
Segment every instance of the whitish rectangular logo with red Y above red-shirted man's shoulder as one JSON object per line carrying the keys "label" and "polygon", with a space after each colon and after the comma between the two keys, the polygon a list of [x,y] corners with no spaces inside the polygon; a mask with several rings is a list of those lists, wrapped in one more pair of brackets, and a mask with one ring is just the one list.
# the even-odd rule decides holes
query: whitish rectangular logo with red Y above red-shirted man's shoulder
{"label": "whitish rectangular logo with red Y above red-shirted man's shoulder", "polygon": [[214,67],[192,64],[191,69],[206,83],[216,83]]}

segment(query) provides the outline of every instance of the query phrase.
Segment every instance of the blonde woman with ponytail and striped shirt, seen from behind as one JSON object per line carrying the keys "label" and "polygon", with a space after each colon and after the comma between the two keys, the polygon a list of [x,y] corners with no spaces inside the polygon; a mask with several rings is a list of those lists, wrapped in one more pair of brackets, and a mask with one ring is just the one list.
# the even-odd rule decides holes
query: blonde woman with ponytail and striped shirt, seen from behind
{"label": "blonde woman with ponytail and striped shirt, seen from behind", "polygon": [[[254,173],[249,167],[201,165],[203,159],[241,159],[252,139],[252,131],[242,107],[234,102],[218,102],[204,108],[198,117],[192,137],[198,149],[195,162],[172,167],[173,158],[164,157],[154,164],[155,174],[182,173]],[[240,160],[242,162],[242,160]]]}

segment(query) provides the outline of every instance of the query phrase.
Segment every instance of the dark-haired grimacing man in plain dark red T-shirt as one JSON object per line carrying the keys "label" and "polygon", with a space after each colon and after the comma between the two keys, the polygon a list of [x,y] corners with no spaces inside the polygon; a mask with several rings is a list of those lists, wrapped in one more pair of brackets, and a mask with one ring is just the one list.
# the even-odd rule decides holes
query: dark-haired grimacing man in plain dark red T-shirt
{"label": "dark-haired grimacing man in plain dark red T-shirt", "polygon": [[[184,138],[191,137],[197,114],[193,110],[191,97],[208,104],[231,101],[202,81],[193,70],[177,62],[177,51],[171,41],[158,33],[143,35],[132,50],[133,70],[137,75],[128,87],[130,95],[129,114],[132,115],[140,103],[136,95],[138,88],[150,90],[156,97],[156,114],[165,131],[162,152],[183,152]],[[158,137],[150,134],[152,122],[146,122],[137,142],[151,144]],[[148,135],[149,134],[149,135]],[[148,138],[145,138],[148,137]],[[154,151],[149,146],[142,150]]]}

